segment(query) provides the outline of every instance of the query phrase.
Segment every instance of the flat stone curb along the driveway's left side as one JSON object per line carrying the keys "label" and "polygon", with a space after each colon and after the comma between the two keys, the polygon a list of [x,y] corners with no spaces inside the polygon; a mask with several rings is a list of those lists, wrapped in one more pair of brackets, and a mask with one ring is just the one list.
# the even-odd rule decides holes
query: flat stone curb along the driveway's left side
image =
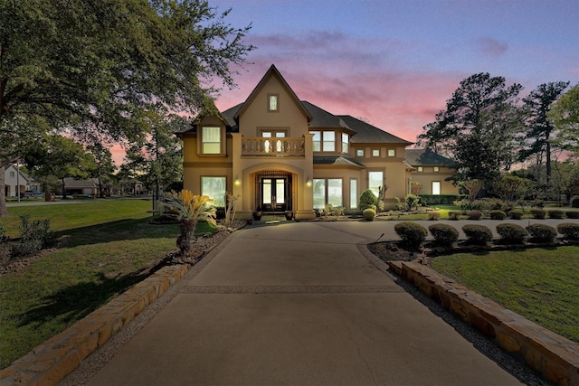
{"label": "flat stone curb along the driveway's left side", "polygon": [[0,385],[55,385],[62,381],[190,268],[184,264],[159,269],[0,371]]}

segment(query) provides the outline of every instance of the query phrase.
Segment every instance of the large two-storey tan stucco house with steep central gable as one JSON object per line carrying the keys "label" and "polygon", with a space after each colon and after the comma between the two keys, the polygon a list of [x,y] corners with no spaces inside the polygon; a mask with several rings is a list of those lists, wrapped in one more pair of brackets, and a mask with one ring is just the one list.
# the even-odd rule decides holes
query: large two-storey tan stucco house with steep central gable
{"label": "large two-storey tan stucco house with steep central gable", "polygon": [[256,209],[313,219],[327,203],[356,210],[365,189],[383,187],[385,207],[394,208],[409,193],[412,142],[299,100],[273,65],[245,102],[176,134],[184,188],[221,207],[225,192],[239,194],[242,219]]}

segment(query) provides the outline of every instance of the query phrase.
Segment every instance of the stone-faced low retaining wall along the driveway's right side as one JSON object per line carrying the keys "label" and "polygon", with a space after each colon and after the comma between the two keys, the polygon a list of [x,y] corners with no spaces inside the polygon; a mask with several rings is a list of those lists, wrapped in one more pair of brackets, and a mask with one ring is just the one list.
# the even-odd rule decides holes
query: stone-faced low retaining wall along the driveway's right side
{"label": "stone-faced low retaining wall along the driveway's right side", "polygon": [[555,385],[579,385],[579,344],[416,262],[390,269]]}

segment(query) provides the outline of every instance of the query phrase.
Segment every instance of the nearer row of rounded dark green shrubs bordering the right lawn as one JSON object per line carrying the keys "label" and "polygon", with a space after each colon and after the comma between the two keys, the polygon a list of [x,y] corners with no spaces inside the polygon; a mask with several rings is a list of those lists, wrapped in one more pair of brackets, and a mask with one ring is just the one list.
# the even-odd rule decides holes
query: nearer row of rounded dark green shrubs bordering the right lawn
{"label": "nearer row of rounded dark green shrubs bordering the right lawn", "polygon": [[[579,240],[579,224],[565,222],[557,225],[556,229],[546,224],[531,224],[526,228],[518,224],[504,223],[497,225],[499,242],[522,244],[527,240],[532,242],[553,242],[558,233],[565,240]],[[431,231],[434,241],[442,247],[450,247],[459,239],[459,231],[448,224],[432,224],[428,230],[416,222],[403,221],[394,225],[394,231],[411,249],[417,249],[426,240],[428,231]],[[462,231],[471,244],[486,245],[492,240],[492,231],[489,227],[477,224],[466,224]]]}

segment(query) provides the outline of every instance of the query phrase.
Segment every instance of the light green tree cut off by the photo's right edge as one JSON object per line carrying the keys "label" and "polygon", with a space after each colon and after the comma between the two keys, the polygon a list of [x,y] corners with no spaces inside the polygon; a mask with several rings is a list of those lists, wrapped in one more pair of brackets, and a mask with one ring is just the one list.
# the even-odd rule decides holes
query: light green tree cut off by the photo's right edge
{"label": "light green tree cut off by the photo's right edge", "polygon": [[557,146],[579,156],[579,84],[555,102],[547,112],[547,118],[558,130]]}

